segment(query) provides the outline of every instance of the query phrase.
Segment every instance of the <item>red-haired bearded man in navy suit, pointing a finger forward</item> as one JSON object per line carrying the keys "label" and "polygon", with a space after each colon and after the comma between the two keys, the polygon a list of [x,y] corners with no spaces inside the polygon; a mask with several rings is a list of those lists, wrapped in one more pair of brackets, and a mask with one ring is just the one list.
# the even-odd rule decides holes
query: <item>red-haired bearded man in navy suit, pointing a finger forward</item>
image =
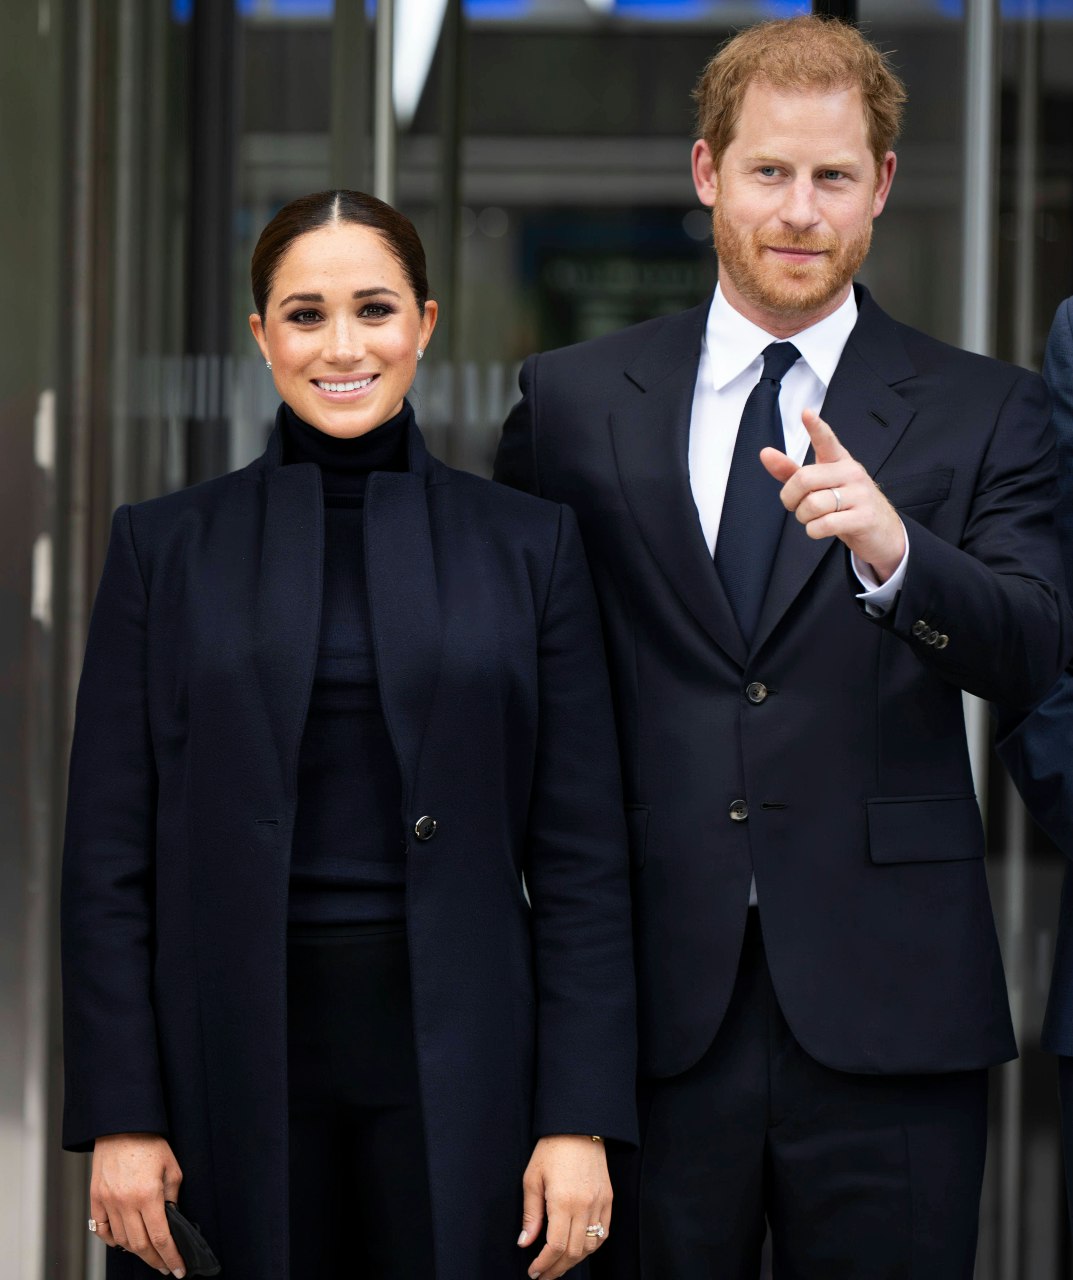
{"label": "red-haired bearded man in navy suit, pointing a finger forward", "polygon": [[754,1280],[768,1226],[784,1280],[973,1274],[1017,1048],[962,691],[1031,703],[1073,636],[1042,383],[853,283],[903,99],[843,23],[729,41],[693,147],[714,297],[529,358],[499,448],[576,511],[612,671],[643,1130],[615,1280]]}

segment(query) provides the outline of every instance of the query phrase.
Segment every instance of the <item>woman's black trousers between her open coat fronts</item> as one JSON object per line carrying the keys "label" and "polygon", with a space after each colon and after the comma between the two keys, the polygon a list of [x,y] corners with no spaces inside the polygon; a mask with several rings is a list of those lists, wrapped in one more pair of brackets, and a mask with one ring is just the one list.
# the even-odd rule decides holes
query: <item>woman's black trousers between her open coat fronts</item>
{"label": "woman's black trousers between her open coat fronts", "polygon": [[434,1268],[405,928],[292,931],[289,1280]]}

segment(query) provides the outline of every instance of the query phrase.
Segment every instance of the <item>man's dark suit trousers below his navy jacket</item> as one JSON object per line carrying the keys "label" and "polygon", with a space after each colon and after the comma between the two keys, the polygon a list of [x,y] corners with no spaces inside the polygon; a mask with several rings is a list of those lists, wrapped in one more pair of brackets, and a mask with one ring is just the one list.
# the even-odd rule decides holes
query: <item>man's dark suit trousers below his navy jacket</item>
{"label": "man's dark suit trousers below his navy jacket", "polygon": [[[987,1073],[850,1075],[779,1009],[757,911],[730,1009],[689,1071],[640,1096],[603,1280],[972,1280]],[[602,1270],[597,1270],[597,1267]]]}

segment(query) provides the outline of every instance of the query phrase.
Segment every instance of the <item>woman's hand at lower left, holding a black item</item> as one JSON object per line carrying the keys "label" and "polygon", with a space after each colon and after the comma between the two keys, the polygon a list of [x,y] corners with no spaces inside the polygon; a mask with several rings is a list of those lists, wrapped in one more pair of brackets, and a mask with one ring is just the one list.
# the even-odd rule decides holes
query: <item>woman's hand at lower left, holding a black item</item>
{"label": "woman's hand at lower left, holding a black item", "polygon": [[114,1133],[93,1143],[90,1212],[105,1244],[119,1244],[161,1275],[184,1276],[165,1201],[178,1201],[182,1170],[154,1133]]}

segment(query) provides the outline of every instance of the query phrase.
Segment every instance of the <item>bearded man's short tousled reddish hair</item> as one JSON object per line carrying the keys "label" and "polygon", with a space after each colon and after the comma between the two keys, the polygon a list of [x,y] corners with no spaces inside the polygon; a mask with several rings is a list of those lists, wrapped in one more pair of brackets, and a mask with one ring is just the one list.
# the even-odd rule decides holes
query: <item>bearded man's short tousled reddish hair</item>
{"label": "bearded man's short tousled reddish hair", "polygon": [[745,90],[754,81],[790,92],[858,88],[876,165],[894,147],[901,128],[905,86],[887,56],[855,27],[816,15],[761,22],[720,47],[693,91],[698,133],[708,143],[716,168],[734,138]]}

